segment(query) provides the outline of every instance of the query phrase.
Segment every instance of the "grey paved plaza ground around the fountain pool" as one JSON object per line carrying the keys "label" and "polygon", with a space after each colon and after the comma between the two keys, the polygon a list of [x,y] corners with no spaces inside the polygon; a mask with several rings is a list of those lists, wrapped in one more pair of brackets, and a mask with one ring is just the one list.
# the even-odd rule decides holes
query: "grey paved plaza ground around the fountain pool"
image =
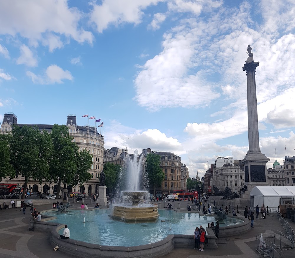
{"label": "grey paved plaza ground around the fountain pool", "polygon": [[[79,204],[76,204],[77,207]],[[75,205],[75,206],[76,206]],[[177,207],[177,202],[175,202]],[[52,205],[35,206],[39,211],[48,210]],[[185,211],[186,203],[181,203],[181,210]],[[28,231],[29,220],[31,218],[30,209],[27,209],[24,215],[19,208],[2,209],[0,211],[0,258],[61,258],[72,257],[60,251],[54,251],[49,244],[50,233],[39,231]],[[295,228],[295,223],[289,221],[290,225]],[[196,223],[196,226],[199,226]],[[192,228],[192,234],[194,228]],[[174,249],[171,253],[163,256],[163,258],[256,258],[263,257],[256,251],[256,234],[260,233],[285,233],[280,222],[276,217],[268,216],[267,219],[255,219],[254,228],[245,235],[232,236],[227,238],[219,238],[216,240],[218,249],[206,249],[200,252],[193,248],[191,249]],[[284,251],[283,258],[294,257],[294,249]]]}

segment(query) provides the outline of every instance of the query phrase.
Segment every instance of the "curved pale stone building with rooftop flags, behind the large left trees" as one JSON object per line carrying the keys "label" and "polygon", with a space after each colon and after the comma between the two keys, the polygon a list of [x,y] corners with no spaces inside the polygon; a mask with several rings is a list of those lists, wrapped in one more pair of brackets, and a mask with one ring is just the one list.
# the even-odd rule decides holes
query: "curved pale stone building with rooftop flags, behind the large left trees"
{"label": "curved pale stone building with rooftop flags, behind the large left trees", "polygon": [[[0,133],[6,133],[12,131],[13,124],[16,124],[20,127],[35,126],[37,125],[39,130],[43,130],[48,133],[51,132],[53,124],[18,124],[17,117],[14,113],[5,113],[3,122],[1,124]],[[92,154],[92,165],[89,173],[91,173],[91,179],[88,182],[85,182],[83,185],[78,186],[67,186],[69,192],[78,192],[86,193],[89,196],[93,193],[98,193],[99,186],[99,175],[103,170],[103,157],[104,157],[104,137],[97,132],[97,128],[91,125],[79,126],[77,125],[76,115],[68,115],[66,125],[69,128],[69,134],[73,137],[73,142],[79,147],[79,150],[89,150],[89,153]],[[9,180],[8,178],[3,179],[1,183],[15,183],[23,185],[24,177],[16,175],[16,178]],[[30,180],[28,182],[28,188],[31,192],[42,192],[42,193],[55,193],[58,185],[55,182],[48,182],[43,180],[42,184],[37,180]]]}

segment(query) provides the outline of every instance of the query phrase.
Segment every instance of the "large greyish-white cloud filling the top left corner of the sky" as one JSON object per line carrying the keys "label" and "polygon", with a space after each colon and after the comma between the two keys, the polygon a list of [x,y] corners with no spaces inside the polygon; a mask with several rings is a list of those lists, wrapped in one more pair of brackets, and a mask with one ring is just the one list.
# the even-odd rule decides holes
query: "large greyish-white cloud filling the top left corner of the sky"
{"label": "large greyish-white cloud filling the top left corner of the sky", "polygon": [[69,8],[66,0],[4,1],[0,8],[0,34],[20,35],[34,46],[42,42],[50,51],[62,47],[63,37],[92,44],[92,33],[79,26],[83,15],[77,8]]}

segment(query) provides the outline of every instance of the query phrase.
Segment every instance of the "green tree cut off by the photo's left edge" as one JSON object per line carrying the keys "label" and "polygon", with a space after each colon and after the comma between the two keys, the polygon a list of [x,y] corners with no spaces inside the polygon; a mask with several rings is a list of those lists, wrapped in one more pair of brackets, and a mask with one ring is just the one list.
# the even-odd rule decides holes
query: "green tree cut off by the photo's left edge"
{"label": "green tree cut off by the photo's left edge", "polygon": [[14,178],[15,171],[10,163],[9,139],[10,134],[0,134],[0,181],[3,178],[10,176]]}

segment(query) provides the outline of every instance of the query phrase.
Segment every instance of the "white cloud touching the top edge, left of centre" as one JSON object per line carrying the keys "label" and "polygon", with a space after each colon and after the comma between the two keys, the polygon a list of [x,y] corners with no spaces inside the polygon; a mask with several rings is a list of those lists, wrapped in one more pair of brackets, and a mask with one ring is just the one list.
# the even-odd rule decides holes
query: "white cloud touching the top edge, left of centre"
{"label": "white cloud touching the top edge, left of centre", "polygon": [[165,0],[102,0],[101,4],[93,4],[90,20],[102,33],[109,25],[118,26],[122,23],[141,22],[144,13],[142,10],[150,5],[157,5]]}

